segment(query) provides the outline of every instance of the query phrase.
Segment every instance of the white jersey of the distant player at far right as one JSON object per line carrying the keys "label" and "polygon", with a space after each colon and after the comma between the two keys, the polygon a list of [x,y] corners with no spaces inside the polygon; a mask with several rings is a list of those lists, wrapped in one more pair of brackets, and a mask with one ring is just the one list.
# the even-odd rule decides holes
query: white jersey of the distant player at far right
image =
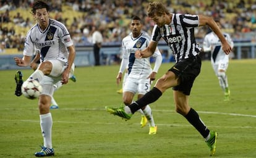
{"label": "white jersey of the distant player at far right", "polygon": [[[227,33],[223,33],[231,47],[234,46],[233,40]],[[220,61],[228,62],[228,55],[225,54],[223,49],[221,49],[221,41],[218,36],[211,31],[203,39],[203,50],[211,51],[211,63],[218,64]]]}

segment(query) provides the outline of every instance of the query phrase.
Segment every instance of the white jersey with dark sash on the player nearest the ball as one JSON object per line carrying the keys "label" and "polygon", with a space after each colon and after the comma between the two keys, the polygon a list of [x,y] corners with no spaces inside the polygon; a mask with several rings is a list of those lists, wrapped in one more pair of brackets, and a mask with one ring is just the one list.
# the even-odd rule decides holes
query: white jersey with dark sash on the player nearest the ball
{"label": "white jersey with dark sash on the player nearest the ball", "polygon": [[69,56],[67,47],[72,45],[67,28],[61,22],[49,19],[49,25],[44,31],[40,29],[38,23],[28,31],[23,55],[33,56],[33,50],[36,48],[40,50],[41,62],[49,59],[67,62]]}

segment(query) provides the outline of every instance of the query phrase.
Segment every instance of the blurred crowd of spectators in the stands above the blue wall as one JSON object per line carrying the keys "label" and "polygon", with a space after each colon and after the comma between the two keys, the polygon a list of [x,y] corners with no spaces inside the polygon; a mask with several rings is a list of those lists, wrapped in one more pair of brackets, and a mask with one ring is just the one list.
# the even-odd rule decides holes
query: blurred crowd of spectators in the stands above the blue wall
{"label": "blurred crowd of spectators in the stands above the blue wall", "polygon": [[[23,49],[25,33],[17,32],[23,28],[28,30],[35,24],[32,14],[30,17],[23,17],[30,12],[33,1],[0,1],[0,43],[4,48]],[[52,18],[67,26],[76,46],[92,44],[93,28],[101,31],[104,38],[103,45],[121,44],[122,38],[130,32],[129,22],[132,15],[139,15],[143,21],[143,30],[148,31],[149,34],[153,28],[153,22],[147,17],[149,1],[48,0],[48,2],[51,4]],[[204,14],[220,18],[223,30],[230,33],[234,41],[255,38],[256,1],[254,0],[165,0],[164,2],[170,12]],[[19,12],[15,11],[17,9]],[[66,15],[66,9],[72,9],[80,14]],[[10,12],[15,14],[11,15]],[[6,25],[10,23],[13,24],[12,27]],[[196,37],[202,39],[208,31],[206,27],[199,27],[195,30]]]}

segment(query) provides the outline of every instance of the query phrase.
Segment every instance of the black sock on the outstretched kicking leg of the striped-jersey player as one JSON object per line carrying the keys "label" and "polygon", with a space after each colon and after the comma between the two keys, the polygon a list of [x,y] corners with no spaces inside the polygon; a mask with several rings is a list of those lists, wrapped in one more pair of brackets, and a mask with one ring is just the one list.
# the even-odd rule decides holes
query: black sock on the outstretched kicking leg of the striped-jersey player
{"label": "black sock on the outstretched kicking leg of the striped-jersey player", "polygon": [[153,87],[148,93],[146,93],[142,98],[130,104],[130,110],[132,114],[137,110],[141,109],[144,106],[147,106],[151,102],[155,102],[162,95],[161,91],[155,87]]}

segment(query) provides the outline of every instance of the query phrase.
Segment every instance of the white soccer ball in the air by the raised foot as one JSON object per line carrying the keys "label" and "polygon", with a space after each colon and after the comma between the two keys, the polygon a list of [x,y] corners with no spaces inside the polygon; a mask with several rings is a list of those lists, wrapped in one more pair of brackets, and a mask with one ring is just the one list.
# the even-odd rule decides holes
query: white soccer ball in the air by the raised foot
{"label": "white soccer ball in the air by the raised foot", "polygon": [[22,94],[28,99],[38,98],[42,90],[42,86],[36,80],[24,81],[22,84]]}

